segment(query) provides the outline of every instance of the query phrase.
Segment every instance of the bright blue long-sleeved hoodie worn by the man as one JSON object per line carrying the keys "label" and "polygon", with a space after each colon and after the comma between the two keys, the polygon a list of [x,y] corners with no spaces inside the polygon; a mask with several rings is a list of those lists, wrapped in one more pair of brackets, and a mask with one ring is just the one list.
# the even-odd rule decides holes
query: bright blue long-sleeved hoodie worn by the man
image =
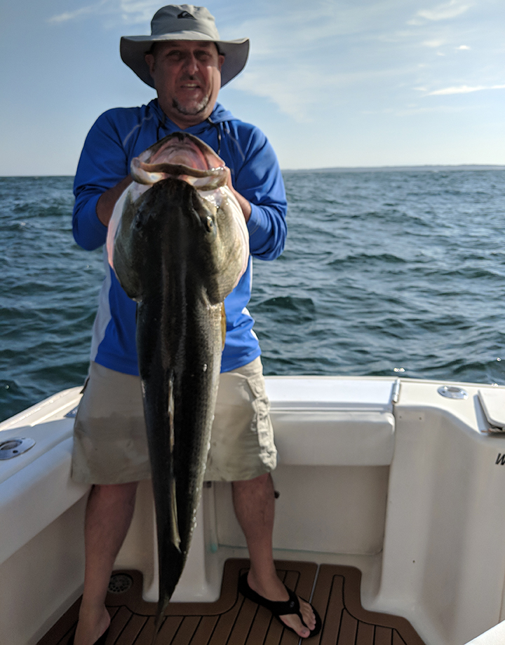
{"label": "bright blue long-sleeved hoodie worn by the man", "polygon": [[[142,107],[115,108],[97,118],[84,143],[74,181],[76,202],[72,226],[76,243],[86,250],[105,244],[107,226],[97,217],[100,195],[130,172],[131,160],[180,128],[152,100]],[[184,132],[217,151],[231,170],[238,193],[251,204],[248,221],[251,256],[264,260],[278,257],[286,236],[286,199],[281,170],[267,137],[254,125],[234,118],[219,103],[210,118]],[[91,360],[125,374],[138,374],[135,346],[136,303],[130,300],[107,262],[100,291]],[[224,301],[227,337],[222,353],[222,372],[247,365],[260,355],[253,332],[254,320],[247,310],[253,279],[248,269]]]}

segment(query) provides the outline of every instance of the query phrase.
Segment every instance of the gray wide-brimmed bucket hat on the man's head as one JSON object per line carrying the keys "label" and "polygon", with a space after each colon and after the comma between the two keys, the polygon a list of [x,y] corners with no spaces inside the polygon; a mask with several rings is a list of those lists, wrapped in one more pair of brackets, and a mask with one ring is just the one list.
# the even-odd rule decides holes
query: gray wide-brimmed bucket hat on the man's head
{"label": "gray wide-brimmed bucket hat on the man's head", "polygon": [[221,68],[221,87],[242,72],[249,55],[249,39],[220,40],[214,16],[205,7],[192,4],[169,4],[161,7],[151,20],[150,36],[123,36],[119,50],[121,59],[137,76],[154,88],[149,67],[144,60],[153,43],[170,40],[205,40],[217,44],[224,54]]}

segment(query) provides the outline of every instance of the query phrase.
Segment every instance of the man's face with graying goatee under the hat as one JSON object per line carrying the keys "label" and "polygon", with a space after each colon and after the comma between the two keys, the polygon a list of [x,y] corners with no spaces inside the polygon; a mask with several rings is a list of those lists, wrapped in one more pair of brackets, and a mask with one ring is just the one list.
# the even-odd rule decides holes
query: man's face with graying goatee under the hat
{"label": "man's face with graying goatee under the hat", "polygon": [[221,87],[224,56],[208,41],[157,43],[145,60],[161,109],[180,128],[205,121]]}

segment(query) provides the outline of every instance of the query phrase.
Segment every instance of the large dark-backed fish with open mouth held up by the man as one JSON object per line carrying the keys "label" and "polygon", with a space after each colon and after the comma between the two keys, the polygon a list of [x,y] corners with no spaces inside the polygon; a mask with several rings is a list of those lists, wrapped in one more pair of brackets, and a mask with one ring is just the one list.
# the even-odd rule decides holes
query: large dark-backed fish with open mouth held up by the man
{"label": "large dark-backed fish with open mouth held up by the man", "polygon": [[245,271],[249,243],[228,170],[196,137],[165,137],[133,159],[131,174],[135,181],[109,224],[107,252],[138,303],[159,551],[157,633],[201,497],[226,330],[222,303]]}

